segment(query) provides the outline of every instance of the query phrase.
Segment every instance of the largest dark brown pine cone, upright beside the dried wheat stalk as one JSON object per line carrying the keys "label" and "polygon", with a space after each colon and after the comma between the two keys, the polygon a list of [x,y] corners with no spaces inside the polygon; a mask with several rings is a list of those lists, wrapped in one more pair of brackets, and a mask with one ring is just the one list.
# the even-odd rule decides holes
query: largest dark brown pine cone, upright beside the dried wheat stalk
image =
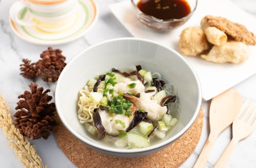
{"label": "largest dark brown pine cone, upright beside the dried wheat stalk", "polygon": [[31,92],[26,90],[18,96],[18,99],[24,100],[19,100],[15,108],[17,110],[14,114],[15,126],[31,140],[41,137],[47,139],[50,135],[49,130],[52,130],[56,123],[53,119],[56,111],[55,104],[48,104],[52,100],[52,97],[47,94],[49,89],[42,92],[44,88],[37,88],[35,83],[31,83],[29,87]]}

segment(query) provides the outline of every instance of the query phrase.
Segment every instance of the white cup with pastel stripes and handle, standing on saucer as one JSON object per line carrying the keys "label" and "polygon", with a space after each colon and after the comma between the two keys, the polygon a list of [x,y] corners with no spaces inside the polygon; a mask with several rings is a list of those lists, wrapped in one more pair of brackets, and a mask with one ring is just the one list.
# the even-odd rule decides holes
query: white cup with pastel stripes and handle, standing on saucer
{"label": "white cup with pastel stripes and handle, standing on saucer", "polygon": [[[73,25],[77,18],[77,4],[77,0],[17,1],[10,8],[10,17],[21,26],[57,32]],[[24,11],[29,12],[29,19],[19,18]]]}

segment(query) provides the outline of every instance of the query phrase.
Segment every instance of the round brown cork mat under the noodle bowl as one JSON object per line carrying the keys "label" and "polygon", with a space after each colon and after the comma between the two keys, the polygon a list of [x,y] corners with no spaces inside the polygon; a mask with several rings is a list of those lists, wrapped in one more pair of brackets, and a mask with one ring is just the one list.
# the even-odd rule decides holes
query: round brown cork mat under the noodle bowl
{"label": "round brown cork mat under the noodle bowl", "polygon": [[56,115],[57,126],[54,134],[58,145],[66,156],[79,168],[82,167],[179,167],[195,150],[203,128],[202,108],[194,124],[174,143],[163,150],[138,158],[107,156],[77,140]]}

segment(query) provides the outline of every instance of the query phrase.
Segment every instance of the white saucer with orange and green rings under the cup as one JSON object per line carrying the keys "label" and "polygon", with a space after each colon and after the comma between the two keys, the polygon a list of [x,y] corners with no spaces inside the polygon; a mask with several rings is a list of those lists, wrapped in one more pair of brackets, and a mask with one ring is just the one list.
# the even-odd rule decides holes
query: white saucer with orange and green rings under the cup
{"label": "white saucer with orange and green rings under the cup", "polygon": [[[28,8],[24,8],[18,16],[20,19],[31,18]],[[67,29],[57,32],[46,32],[37,27],[18,25],[9,18],[10,26],[17,36],[25,41],[41,45],[57,45],[68,43],[83,36],[96,22],[98,18],[97,5],[93,0],[79,0],[76,19]]]}

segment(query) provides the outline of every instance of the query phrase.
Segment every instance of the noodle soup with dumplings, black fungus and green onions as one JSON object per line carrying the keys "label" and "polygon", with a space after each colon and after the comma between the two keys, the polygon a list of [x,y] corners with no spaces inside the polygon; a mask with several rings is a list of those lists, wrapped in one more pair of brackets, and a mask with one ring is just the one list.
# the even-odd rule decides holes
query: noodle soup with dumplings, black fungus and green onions
{"label": "noodle soup with dumplings, black fungus and green onions", "polygon": [[116,148],[135,149],[161,140],[178,122],[178,97],[158,73],[116,68],[90,79],[78,95],[78,119]]}

